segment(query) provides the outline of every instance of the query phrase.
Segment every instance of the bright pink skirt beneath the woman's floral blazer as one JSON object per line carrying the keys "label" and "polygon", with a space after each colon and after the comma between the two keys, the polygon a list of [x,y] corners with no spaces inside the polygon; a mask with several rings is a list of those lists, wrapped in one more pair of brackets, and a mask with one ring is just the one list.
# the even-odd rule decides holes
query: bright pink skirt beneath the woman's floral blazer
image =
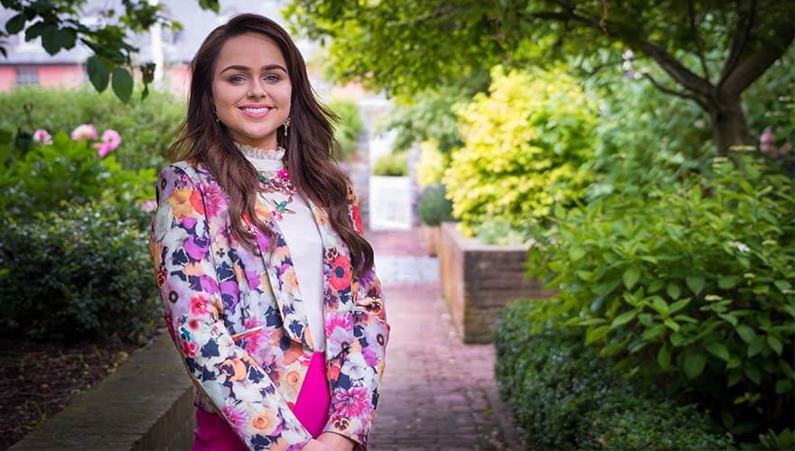
{"label": "bright pink skirt beneath the woman's floral blazer", "polygon": [[[323,432],[326,421],[328,421],[330,404],[331,394],[326,380],[325,357],[323,351],[318,351],[312,356],[304,385],[301,386],[298,400],[295,400],[292,410],[304,428],[312,434],[312,437],[317,438]],[[197,427],[193,429],[192,451],[246,449],[237,434],[217,414],[197,407],[196,424]]]}

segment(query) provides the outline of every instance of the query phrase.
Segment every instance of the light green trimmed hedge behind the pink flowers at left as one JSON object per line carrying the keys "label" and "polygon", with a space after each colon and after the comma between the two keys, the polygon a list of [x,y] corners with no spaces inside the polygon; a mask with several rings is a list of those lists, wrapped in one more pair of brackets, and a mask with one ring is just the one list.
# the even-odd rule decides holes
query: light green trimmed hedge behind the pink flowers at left
{"label": "light green trimmed hedge behind the pink flowers at left", "polygon": [[[31,106],[30,114],[25,106]],[[123,104],[110,89],[98,94],[92,87],[42,89],[18,87],[0,93],[0,130],[19,127],[69,133],[79,124],[95,124],[99,130],[113,129],[122,135],[114,152],[130,170],[161,168],[173,136],[185,114],[185,102],[171,93],[151,91],[145,100],[134,94]]]}

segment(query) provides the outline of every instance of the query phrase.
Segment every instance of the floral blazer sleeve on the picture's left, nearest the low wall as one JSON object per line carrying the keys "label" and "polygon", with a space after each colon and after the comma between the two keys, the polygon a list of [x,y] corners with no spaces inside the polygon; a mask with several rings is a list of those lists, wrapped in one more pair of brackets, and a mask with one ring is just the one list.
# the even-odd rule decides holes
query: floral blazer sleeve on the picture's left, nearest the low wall
{"label": "floral blazer sleeve on the picture's left, nearest the low wall", "polygon": [[223,323],[201,189],[176,166],[160,172],[150,250],[166,325],[193,384],[249,449],[301,449],[312,436]]}

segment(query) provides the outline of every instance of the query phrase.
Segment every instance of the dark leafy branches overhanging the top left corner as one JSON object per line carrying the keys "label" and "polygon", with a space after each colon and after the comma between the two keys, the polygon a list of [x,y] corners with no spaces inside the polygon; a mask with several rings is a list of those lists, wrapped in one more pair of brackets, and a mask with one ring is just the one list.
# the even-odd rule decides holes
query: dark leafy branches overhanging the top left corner
{"label": "dark leafy branches overhanging the top left corner", "polygon": [[[199,0],[203,9],[219,11],[219,0]],[[127,32],[145,32],[155,23],[162,23],[172,29],[182,25],[162,14],[163,5],[152,4],[147,0],[122,0],[124,12],[108,9],[98,26],[80,22],[81,8],[86,0],[2,0],[0,5],[15,11],[5,23],[5,32],[0,31],[0,52],[7,56],[5,41],[10,36],[24,32],[25,41],[42,38],[44,50],[55,55],[63,49],[71,49],[77,41],[82,42],[94,52],[86,61],[91,84],[99,92],[111,85],[117,97],[127,102],[133,92],[133,56],[138,49],[130,43]],[[138,66],[141,70],[144,90],[154,78],[154,63]]]}

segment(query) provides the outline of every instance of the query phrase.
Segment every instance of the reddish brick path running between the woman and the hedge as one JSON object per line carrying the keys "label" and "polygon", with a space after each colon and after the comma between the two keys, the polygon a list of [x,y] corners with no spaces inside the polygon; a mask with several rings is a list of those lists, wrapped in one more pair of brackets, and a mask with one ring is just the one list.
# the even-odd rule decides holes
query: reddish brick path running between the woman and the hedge
{"label": "reddish brick path running between the woman and the hedge", "polygon": [[[435,260],[426,257],[418,231],[370,232],[368,238],[392,327],[371,448],[516,448],[518,436],[496,397],[493,348],[462,344],[444,306],[438,263],[436,276],[426,274],[419,283],[395,277],[412,273],[399,267]],[[389,259],[392,266],[385,266]]]}

